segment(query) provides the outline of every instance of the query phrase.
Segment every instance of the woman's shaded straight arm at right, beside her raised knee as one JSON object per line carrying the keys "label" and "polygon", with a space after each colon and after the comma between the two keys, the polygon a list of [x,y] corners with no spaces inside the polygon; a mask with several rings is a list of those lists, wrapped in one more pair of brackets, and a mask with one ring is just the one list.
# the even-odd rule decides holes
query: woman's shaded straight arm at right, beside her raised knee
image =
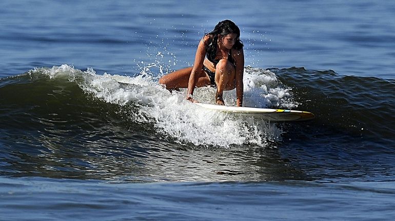
{"label": "woman's shaded straight arm at right, beside her raised knee", "polygon": [[244,51],[243,48],[240,50],[234,50],[234,58],[235,58],[235,80],[236,80],[236,105],[243,106],[243,94],[244,94],[244,84],[243,84],[243,75],[244,75]]}

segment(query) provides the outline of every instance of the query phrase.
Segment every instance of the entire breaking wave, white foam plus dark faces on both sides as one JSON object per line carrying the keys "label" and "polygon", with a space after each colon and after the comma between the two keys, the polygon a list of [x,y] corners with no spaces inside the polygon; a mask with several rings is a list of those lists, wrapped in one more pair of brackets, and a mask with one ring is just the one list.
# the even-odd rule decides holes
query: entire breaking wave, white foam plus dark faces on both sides
{"label": "entire breaking wave, white foam plus dark faces on both sides", "polygon": [[[157,83],[158,67],[151,72],[152,67],[148,65],[140,75],[131,77],[98,75],[91,68],[82,71],[64,64],[2,79],[0,115],[8,119],[2,122],[4,130],[18,125],[59,129],[54,122],[62,122],[66,131],[75,125],[84,131],[96,124],[120,124],[123,129],[142,130],[180,144],[229,147],[281,142],[284,132],[301,125],[207,111],[186,101],[185,90],[165,90]],[[394,80],[304,68],[246,67],[244,71],[244,106],[301,109],[317,116],[303,126],[384,141],[393,138],[389,122],[395,120]],[[203,87],[196,90],[195,97],[214,103],[214,94],[214,88]],[[235,91],[225,92],[224,100],[235,105]],[[292,128],[284,130],[287,127]]]}

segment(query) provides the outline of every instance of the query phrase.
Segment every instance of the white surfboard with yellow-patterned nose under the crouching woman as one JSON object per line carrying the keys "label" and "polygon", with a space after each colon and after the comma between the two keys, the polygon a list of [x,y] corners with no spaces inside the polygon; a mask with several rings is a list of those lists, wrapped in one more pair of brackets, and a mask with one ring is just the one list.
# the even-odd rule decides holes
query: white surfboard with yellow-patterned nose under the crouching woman
{"label": "white surfboard with yellow-patterned nose under the crouching woman", "polygon": [[259,117],[263,120],[283,122],[283,121],[306,121],[314,119],[314,114],[305,111],[294,111],[288,109],[270,109],[257,107],[238,107],[224,106],[207,103],[195,103],[201,107],[211,111],[218,111],[236,115],[246,115],[251,117]]}

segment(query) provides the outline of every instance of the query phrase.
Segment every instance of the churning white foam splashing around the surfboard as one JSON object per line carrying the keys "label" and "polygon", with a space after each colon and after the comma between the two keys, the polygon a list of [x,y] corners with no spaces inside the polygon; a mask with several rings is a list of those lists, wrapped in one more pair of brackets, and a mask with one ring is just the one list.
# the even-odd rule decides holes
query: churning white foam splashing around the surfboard
{"label": "churning white foam splashing around the surfboard", "polygon": [[[108,103],[132,105],[138,113],[130,113],[133,121],[152,123],[158,135],[180,144],[229,147],[255,144],[266,146],[268,141],[280,141],[283,131],[275,124],[253,118],[237,117],[209,111],[185,99],[185,90],[170,93],[159,85],[157,73],[144,69],[136,77],[103,74],[93,69],[86,72],[62,65],[46,69],[51,78],[67,76],[89,94]],[[244,106],[294,106],[290,89],[282,86],[274,73],[251,67],[245,68]],[[214,103],[215,89],[195,90],[200,102]],[[227,105],[235,105],[235,90],[225,92]],[[139,117],[136,117],[139,116]]]}

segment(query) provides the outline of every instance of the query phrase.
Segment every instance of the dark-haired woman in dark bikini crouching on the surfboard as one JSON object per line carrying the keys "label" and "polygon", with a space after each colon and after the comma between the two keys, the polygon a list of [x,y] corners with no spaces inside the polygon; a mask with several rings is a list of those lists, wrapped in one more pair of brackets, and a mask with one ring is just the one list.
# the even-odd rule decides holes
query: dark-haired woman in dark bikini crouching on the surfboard
{"label": "dark-haired woman in dark bikini crouching on the surfboard", "polygon": [[240,29],[231,20],[223,20],[199,42],[193,67],[163,76],[160,84],[168,90],[187,88],[186,99],[192,98],[195,87],[216,86],[215,101],[225,105],[223,93],[236,89],[236,105],[243,105],[244,52]]}

